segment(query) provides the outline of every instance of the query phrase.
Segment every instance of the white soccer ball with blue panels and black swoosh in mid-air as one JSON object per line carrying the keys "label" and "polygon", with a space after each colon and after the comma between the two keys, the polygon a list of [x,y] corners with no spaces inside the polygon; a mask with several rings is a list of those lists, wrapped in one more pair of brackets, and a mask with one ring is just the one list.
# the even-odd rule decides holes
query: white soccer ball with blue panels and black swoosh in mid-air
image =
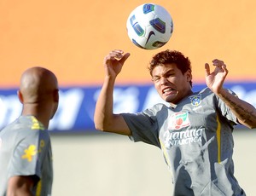
{"label": "white soccer ball with blue panels and black swoosh in mid-air", "polygon": [[131,12],[126,29],[131,42],[137,47],[159,49],[172,36],[172,16],[158,4],[144,3]]}

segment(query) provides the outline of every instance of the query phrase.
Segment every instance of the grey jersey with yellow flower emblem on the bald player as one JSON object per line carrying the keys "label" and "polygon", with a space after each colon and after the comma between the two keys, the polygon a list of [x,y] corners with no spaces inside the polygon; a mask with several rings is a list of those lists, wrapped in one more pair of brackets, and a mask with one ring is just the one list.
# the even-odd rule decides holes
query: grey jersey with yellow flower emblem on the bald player
{"label": "grey jersey with yellow flower emblem on the bald player", "polygon": [[48,130],[32,116],[20,116],[0,131],[0,195],[12,176],[34,176],[33,195],[51,195],[52,152]]}

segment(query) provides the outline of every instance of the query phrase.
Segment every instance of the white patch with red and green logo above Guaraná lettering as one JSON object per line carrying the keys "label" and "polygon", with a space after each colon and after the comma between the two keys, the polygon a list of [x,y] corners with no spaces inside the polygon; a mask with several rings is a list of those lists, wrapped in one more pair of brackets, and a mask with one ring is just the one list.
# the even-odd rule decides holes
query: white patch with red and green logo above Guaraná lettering
{"label": "white patch with red and green logo above Guaran\u00e1 lettering", "polygon": [[190,125],[188,112],[176,112],[172,114],[168,122],[168,128],[170,130],[180,130],[183,127]]}

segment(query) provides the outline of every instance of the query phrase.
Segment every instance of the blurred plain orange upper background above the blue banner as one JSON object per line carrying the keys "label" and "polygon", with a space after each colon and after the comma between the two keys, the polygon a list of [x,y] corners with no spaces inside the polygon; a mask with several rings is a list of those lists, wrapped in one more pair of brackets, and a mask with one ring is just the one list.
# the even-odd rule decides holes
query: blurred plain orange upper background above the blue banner
{"label": "blurred plain orange upper background above the blue banner", "polygon": [[170,41],[156,50],[137,48],[126,33],[128,15],[142,3],[148,2],[1,1],[0,87],[17,86],[30,66],[49,68],[62,86],[102,84],[102,61],[112,49],[131,53],[119,84],[150,83],[148,61],[164,49],[189,56],[194,82],[204,81],[204,64],[215,58],[227,64],[229,80],[255,80],[256,2],[154,1],[174,22]]}

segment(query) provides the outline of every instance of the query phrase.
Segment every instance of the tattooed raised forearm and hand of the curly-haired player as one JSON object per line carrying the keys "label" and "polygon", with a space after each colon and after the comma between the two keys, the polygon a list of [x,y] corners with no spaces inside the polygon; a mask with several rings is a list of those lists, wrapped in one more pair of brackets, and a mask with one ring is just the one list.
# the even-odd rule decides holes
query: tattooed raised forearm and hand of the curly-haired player
{"label": "tattooed raised forearm and hand of the curly-haired player", "polygon": [[206,63],[206,82],[209,89],[224,101],[230,107],[230,110],[236,115],[239,123],[248,128],[256,128],[256,109],[246,101],[242,101],[235,95],[231,95],[227,89],[223,88],[224,80],[228,70],[224,61],[213,60],[215,70],[210,72],[210,66]]}

